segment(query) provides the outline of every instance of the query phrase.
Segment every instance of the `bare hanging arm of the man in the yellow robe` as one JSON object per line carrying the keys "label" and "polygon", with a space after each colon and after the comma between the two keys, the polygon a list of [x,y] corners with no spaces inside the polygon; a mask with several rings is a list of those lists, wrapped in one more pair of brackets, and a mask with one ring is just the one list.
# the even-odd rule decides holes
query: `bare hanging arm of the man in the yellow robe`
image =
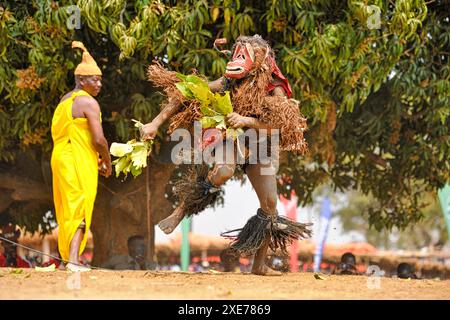
{"label": "bare hanging arm of the man in the yellow robe", "polygon": [[84,116],[88,120],[92,143],[94,144],[95,150],[100,154],[103,163],[106,165],[105,176],[109,176],[111,174],[111,156],[109,155],[108,141],[106,141],[100,123],[100,106],[94,98],[80,98],[83,99],[80,103],[82,103]]}

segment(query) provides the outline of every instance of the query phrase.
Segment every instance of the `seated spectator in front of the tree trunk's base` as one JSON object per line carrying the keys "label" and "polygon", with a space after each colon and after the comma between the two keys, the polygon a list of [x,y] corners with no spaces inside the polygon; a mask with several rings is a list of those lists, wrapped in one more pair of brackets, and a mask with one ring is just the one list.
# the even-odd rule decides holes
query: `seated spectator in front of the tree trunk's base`
{"label": "seated spectator in front of the tree trunk's base", "polygon": [[102,268],[112,270],[154,270],[155,264],[146,260],[144,237],[128,238],[128,255],[113,256],[102,265]]}

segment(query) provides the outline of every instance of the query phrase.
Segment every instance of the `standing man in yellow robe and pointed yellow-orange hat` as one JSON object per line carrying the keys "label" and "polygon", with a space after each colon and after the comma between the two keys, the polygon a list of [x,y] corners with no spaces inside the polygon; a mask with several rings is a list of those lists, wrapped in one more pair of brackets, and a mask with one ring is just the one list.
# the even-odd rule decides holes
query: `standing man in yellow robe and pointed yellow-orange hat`
{"label": "standing man in yellow robe and pointed yellow-orange hat", "polygon": [[97,194],[98,173],[111,175],[108,142],[101,125],[100,106],[93,98],[102,87],[102,72],[81,42],[75,69],[75,89],[58,104],[52,119],[53,200],[59,225],[58,247],[70,271],[89,271],[79,264]]}

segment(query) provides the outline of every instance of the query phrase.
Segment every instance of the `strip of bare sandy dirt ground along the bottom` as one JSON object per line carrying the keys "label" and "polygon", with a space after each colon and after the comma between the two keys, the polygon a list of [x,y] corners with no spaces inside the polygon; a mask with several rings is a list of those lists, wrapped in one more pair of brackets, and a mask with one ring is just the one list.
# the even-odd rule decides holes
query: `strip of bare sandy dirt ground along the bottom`
{"label": "strip of bare sandy dirt ground along the bottom", "polygon": [[325,277],[106,270],[14,273],[0,268],[0,299],[450,299],[450,280]]}

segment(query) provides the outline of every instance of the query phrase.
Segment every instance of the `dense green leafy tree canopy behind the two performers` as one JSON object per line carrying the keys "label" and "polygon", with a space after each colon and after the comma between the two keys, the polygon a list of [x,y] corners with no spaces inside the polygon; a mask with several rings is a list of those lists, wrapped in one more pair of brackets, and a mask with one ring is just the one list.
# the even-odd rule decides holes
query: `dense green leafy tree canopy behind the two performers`
{"label": "dense green leafy tree canopy behind the two performers", "polygon": [[[420,219],[423,190],[414,185],[435,191],[448,181],[446,0],[1,3],[1,172],[20,152],[48,156],[51,117],[80,60],[72,40],[83,41],[104,72],[99,101],[112,142],[130,138],[132,118],[146,122],[159,111],[161,94],[145,80],[152,60],[213,79],[226,64],[214,39],[258,33],[276,50],[310,126],[310,154],[289,155],[281,167],[290,177],[283,192],[294,188],[305,204],[330,181],[336,190],[359,189],[377,199],[369,221],[381,229]],[[81,29],[67,27],[70,5],[81,9]],[[379,28],[368,24],[373,6]]]}

